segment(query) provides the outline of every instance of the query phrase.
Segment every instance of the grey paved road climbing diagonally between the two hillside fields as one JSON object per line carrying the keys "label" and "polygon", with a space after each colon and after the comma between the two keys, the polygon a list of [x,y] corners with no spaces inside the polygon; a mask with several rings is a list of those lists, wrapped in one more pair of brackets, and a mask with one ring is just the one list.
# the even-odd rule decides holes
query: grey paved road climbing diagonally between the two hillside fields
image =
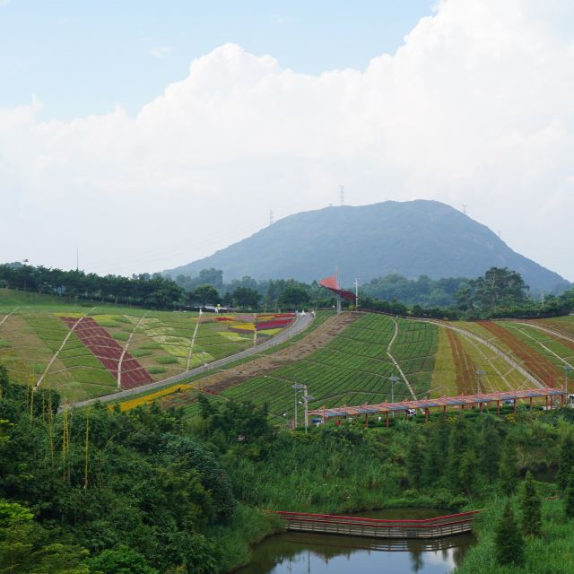
{"label": "grey paved road climbing diagonally between the two hillside fields", "polygon": [[306,329],[311,324],[312,321],[313,317],[310,315],[310,313],[306,315],[298,315],[291,326],[288,326],[282,333],[275,335],[271,339],[268,339],[265,341],[265,343],[258,344],[255,347],[246,349],[245,351],[237,352],[233,355],[230,355],[229,357],[223,357],[217,361],[207,363],[206,366],[196,367],[196,369],[187,370],[183,373],[175,375],[174,377],[164,378],[163,380],[159,380],[155,383],[148,383],[147,385],[142,385],[141,387],[130,388],[125,391],[113,393],[111,395],[98,396],[97,398],[91,398],[87,401],[78,401],[77,403],[71,403],[68,406],[75,408],[94,403],[109,403],[109,401],[117,401],[118,399],[123,399],[128,396],[140,395],[141,393],[145,393],[146,391],[155,388],[170,387],[170,385],[179,383],[183,380],[186,380],[187,378],[195,377],[196,375],[201,375],[212,370],[219,370],[231,362],[239,361],[240,359],[246,359],[247,357],[257,355],[258,353],[266,351],[267,349],[271,349],[279,344],[286,343],[289,341],[289,339],[291,339],[292,336],[299,335],[301,331]]}

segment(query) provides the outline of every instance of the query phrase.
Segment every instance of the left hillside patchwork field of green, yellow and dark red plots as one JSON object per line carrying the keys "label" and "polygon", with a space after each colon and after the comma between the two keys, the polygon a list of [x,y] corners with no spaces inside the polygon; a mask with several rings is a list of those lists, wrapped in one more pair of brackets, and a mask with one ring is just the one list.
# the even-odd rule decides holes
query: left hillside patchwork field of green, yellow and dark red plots
{"label": "left hillside patchwork field of green, yellow and dark red plots", "polygon": [[[20,300],[19,300],[20,299]],[[276,335],[292,317],[66,305],[0,290],[0,363],[78,401],[162,380]],[[22,302],[23,304],[18,304]],[[256,326],[257,324],[257,326]]]}

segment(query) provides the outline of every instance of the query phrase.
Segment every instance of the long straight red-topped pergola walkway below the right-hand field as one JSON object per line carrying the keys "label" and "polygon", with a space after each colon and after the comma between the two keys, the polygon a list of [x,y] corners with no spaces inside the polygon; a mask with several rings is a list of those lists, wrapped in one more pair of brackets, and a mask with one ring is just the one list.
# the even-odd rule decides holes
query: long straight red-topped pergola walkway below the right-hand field
{"label": "long straight red-topped pergola walkway below the right-hand field", "polygon": [[[411,409],[420,409],[424,411],[425,422],[429,418],[431,408],[441,408],[443,412],[447,409],[457,408],[476,408],[478,406],[480,412],[483,412],[483,405],[496,403],[496,413],[500,414],[500,402],[512,401],[514,410],[517,410],[517,401],[528,399],[530,406],[535,398],[544,398],[546,408],[552,409],[552,397],[560,397],[561,405],[564,404],[567,392],[560,388],[532,388],[526,390],[503,391],[500,393],[484,393],[481,395],[459,395],[459,396],[441,396],[440,398],[422,399],[417,401],[402,401],[401,403],[379,403],[379,404],[361,404],[360,406],[337,406],[335,408],[327,409],[320,408],[309,411],[309,416],[321,417],[323,422],[330,418],[346,418],[348,416],[365,415],[365,425],[369,424],[370,414],[385,414],[389,413],[404,413],[408,414]],[[549,400],[550,399],[550,400]]]}

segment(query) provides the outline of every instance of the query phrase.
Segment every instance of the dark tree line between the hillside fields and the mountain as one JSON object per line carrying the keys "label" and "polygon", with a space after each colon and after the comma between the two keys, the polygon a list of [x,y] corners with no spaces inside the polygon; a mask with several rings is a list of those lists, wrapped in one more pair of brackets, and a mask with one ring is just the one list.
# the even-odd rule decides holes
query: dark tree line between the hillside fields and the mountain
{"label": "dark tree line between the hillside fields and the mountain", "polygon": [[[330,308],[335,299],[316,281],[252,277],[223,282],[219,269],[203,269],[197,277],[161,274],[85,274],[20,263],[0,265],[0,286],[49,294],[67,300],[100,300],[152,309],[180,309],[221,305],[235,309]],[[352,291],[352,289],[350,289]],[[421,294],[429,296],[423,303]],[[416,281],[400,275],[373,279],[361,285],[360,306],[396,315],[478,319],[496,317],[553,317],[574,310],[574,288],[561,295],[534,299],[521,275],[508,268],[492,267],[476,279],[448,278],[437,281],[422,276]],[[437,304],[431,304],[433,302]],[[349,308],[350,303],[344,302]]]}

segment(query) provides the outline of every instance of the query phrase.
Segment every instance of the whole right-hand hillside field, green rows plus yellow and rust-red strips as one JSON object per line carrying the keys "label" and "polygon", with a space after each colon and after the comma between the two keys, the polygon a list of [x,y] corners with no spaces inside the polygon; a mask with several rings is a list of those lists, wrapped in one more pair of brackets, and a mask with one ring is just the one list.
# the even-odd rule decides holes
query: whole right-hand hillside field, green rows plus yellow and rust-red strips
{"label": "whole right-hand hillside field, green rows plus yellow and rust-red strips", "polygon": [[570,360],[568,347],[546,342],[548,351],[541,352],[548,336],[538,333],[528,342],[531,330],[512,322],[445,323],[367,313],[316,352],[215,392],[267,403],[285,420],[293,416],[295,383],[308,386],[310,408],[390,401],[391,377],[398,379],[395,400],[556,383],[561,361]]}

